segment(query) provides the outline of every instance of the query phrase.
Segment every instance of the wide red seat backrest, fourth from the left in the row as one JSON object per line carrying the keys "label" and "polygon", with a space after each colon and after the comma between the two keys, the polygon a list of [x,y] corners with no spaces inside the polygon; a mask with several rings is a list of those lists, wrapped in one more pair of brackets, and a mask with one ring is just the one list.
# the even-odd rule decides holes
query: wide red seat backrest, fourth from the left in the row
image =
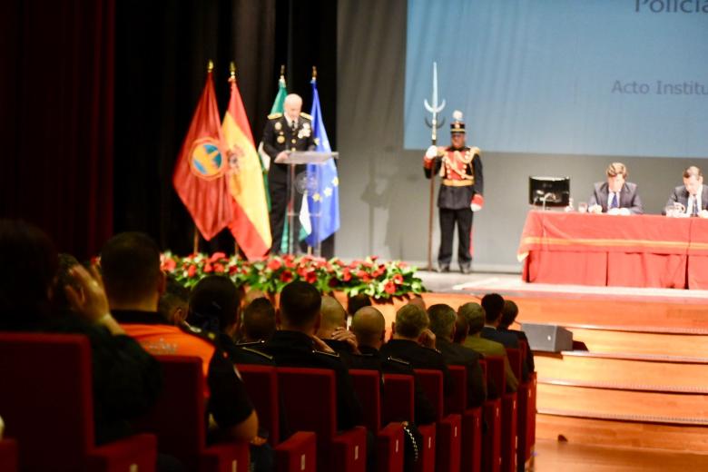
{"label": "wide red seat backrest, fourth from the left in the row", "polygon": [[[279,367],[278,385],[291,431],[313,431],[318,450],[337,434],[337,398],[334,370]],[[285,438],[285,436],[283,436]]]}

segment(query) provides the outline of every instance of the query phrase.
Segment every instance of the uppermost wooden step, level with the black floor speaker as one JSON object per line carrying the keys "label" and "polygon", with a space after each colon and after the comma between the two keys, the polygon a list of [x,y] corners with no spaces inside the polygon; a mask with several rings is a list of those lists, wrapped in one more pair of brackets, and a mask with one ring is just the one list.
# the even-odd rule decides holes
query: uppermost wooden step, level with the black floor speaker
{"label": "uppermost wooden step, level with the black floor speaker", "polygon": [[674,356],[708,356],[707,334],[681,332],[657,334],[652,332],[607,330],[567,326],[573,339],[582,341],[593,352],[636,352],[641,354],[672,354]]}

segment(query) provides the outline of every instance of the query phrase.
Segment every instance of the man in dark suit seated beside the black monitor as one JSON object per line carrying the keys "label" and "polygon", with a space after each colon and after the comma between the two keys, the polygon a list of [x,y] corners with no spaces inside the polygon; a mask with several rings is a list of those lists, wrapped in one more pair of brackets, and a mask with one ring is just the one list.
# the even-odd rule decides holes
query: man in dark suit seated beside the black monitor
{"label": "man in dark suit seated beside the black monitor", "polygon": [[642,214],[642,200],[636,183],[625,182],[627,168],[622,162],[613,162],[607,167],[607,182],[596,182],[593,194],[587,202],[587,211],[608,214]]}

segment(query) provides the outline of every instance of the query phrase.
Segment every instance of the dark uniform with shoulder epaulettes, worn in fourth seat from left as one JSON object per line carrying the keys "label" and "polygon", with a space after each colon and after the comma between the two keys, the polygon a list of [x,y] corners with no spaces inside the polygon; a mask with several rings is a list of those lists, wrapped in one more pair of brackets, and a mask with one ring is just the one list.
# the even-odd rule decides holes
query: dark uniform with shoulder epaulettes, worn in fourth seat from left
{"label": "dark uniform with shoulder epaulettes, worn in fourth seat from left", "polygon": [[[261,348],[275,360],[277,366],[332,369],[337,382],[337,428],[350,429],[363,424],[364,413],[349,371],[338,354],[328,354],[315,349],[314,341],[298,331],[275,331],[273,337]],[[303,398],[307,401],[307,398]],[[315,414],[315,413],[313,413]]]}

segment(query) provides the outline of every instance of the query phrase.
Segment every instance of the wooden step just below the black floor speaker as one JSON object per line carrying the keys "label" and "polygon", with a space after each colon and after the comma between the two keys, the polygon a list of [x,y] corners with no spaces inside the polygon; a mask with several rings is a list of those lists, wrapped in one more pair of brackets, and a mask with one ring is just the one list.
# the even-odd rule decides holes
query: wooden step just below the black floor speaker
{"label": "wooden step just below the black floor speaker", "polygon": [[539,383],[583,383],[604,388],[702,393],[708,395],[708,365],[605,359],[585,356],[539,356]]}

